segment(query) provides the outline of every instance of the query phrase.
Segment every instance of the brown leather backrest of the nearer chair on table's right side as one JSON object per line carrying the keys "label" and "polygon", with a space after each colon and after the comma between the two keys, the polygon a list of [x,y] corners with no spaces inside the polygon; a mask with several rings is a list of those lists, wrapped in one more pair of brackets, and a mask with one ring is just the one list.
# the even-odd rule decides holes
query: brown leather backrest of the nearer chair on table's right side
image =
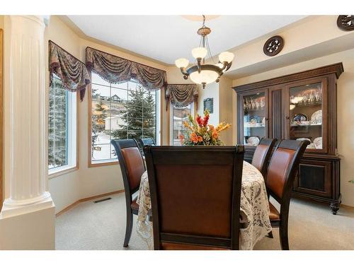
{"label": "brown leather backrest of the nearer chair on table's right side", "polygon": [[299,162],[308,144],[307,141],[282,140],[273,152],[265,186],[270,195],[280,204],[286,206],[290,203],[290,194]]}

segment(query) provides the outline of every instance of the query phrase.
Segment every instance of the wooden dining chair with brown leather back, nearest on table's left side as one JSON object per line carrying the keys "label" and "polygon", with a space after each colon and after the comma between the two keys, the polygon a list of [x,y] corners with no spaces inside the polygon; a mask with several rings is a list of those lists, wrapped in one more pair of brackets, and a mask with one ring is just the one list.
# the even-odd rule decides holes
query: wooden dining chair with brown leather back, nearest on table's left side
{"label": "wooden dining chair with brown leather back, nearest on table's left side", "polygon": [[127,225],[125,228],[124,247],[129,244],[132,235],[133,214],[138,214],[139,204],[137,199],[133,199],[133,194],[137,192],[140,185],[140,179],[144,173],[145,164],[142,154],[139,151],[137,141],[135,139],[112,140],[110,141],[117,153],[120,170],[125,189],[125,205],[127,208]]}

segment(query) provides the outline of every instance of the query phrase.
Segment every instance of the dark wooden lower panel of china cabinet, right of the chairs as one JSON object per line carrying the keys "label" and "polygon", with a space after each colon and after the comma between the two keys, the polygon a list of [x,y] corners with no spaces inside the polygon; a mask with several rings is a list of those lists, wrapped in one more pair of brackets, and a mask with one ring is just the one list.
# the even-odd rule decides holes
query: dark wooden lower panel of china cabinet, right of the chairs
{"label": "dark wooden lower panel of china cabinet, right of the chairs", "polygon": [[294,191],[331,198],[331,165],[329,161],[301,160]]}

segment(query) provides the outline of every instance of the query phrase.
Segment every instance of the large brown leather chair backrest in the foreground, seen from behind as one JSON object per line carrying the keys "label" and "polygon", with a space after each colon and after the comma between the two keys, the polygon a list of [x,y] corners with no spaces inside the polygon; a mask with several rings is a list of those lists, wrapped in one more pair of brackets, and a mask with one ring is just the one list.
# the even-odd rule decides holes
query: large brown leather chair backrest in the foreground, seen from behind
{"label": "large brown leather chair backrest in the foreground, seen from behind", "polygon": [[144,153],[154,249],[239,249],[244,146],[144,146]]}

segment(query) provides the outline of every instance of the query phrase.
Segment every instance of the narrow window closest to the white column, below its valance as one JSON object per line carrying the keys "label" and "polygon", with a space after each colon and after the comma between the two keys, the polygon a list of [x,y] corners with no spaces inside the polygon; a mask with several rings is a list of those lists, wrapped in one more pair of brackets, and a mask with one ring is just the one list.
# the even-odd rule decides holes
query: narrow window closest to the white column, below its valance
{"label": "narrow window closest to the white column, below its valance", "polygon": [[76,167],[76,93],[66,90],[54,76],[49,91],[49,173],[71,167]]}

